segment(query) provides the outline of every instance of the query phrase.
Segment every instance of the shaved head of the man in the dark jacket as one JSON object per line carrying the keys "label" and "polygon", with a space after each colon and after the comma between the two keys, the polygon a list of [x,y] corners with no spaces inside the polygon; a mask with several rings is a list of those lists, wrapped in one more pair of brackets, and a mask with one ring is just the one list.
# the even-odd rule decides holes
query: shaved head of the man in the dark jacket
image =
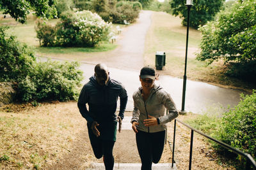
{"label": "shaved head of the man in the dark jacket", "polygon": [[94,68],[94,75],[99,85],[104,86],[108,83],[109,72],[106,64],[97,64]]}

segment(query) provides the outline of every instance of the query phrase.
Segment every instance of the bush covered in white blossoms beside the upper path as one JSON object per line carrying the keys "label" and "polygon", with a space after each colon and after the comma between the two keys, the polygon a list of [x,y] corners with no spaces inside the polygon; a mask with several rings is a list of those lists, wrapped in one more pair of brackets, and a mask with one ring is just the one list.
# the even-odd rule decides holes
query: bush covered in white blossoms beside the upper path
{"label": "bush covered in white blossoms beside the upper path", "polygon": [[97,13],[91,11],[78,11],[77,22],[79,28],[76,34],[77,43],[85,46],[95,46],[100,41],[108,39],[111,23],[104,22]]}

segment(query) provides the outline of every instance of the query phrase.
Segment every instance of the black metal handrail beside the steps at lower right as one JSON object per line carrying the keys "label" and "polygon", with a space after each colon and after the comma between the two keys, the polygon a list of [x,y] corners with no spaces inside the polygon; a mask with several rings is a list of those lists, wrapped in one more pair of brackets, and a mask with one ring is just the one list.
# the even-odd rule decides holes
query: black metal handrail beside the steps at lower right
{"label": "black metal handrail beside the steps at lower right", "polygon": [[205,138],[211,139],[212,141],[214,141],[215,143],[218,143],[219,145],[227,148],[228,150],[232,150],[232,152],[235,152],[239,155],[242,155],[243,157],[246,157],[246,169],[250,169],[250,166],[252,165],[253,168],[256,170],[256,162],[253,159],[253,157],[248,154],[248,153],[244,153],[241,152],[241,150],[238,150],[236,148],[233,148],[230,145],[227,145],[227,143],[223,143],[221,141],[218,141],[217,139],[212,138],[211,136],[208,136],[207,134],[204,134],[201,131],[198,131],[197,129],[191,127],[188,124],[185,124],[184,122],[181,122],[179,119],[175,118],[174,120],[174,132],[173,132],[173,150],[172,150],[172,167],[173,167],[173,163],[174,163],[174,148],[175,148],[175,133],[176,133],[176,122],[180,122],[180,124],[185,125],[186,127],[188,127],[189,129],[191,129],[191,140],[190,140],[190,152],[189,152],[189,170],[191,169],[191,163],[192,163],[192,151],[193,151],[193,135],[194,135],[194,131],[197,132],[198,134],[204,136]]}

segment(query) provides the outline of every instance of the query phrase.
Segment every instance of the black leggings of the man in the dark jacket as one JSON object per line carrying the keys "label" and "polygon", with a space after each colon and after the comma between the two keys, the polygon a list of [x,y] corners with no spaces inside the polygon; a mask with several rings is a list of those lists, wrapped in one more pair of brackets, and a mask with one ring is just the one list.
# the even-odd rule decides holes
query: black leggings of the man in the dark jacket
{"label": "black leggings of the man in the dark jacket", "polygon": [[106,170],[113,170],[115,161],[113,157],[113,147],[115,141],[106,141],[100,139],[99,137],[97,138],[93,134],[90,125],[88,125],[88,134],[95,157],[100,159],[103,156],[103,162]]}

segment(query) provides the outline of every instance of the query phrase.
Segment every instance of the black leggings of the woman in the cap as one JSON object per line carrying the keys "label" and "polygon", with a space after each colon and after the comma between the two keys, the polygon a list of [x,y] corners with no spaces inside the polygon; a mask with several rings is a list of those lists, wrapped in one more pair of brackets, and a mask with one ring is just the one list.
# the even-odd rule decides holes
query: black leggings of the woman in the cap
{"label": "black leggings of the woman in the cap", "polygon": [[165,131],[148,133],[138,131],[136,143],[141,159],[141,170],[150,170],[152,162],[157,164],[164,149]]}

